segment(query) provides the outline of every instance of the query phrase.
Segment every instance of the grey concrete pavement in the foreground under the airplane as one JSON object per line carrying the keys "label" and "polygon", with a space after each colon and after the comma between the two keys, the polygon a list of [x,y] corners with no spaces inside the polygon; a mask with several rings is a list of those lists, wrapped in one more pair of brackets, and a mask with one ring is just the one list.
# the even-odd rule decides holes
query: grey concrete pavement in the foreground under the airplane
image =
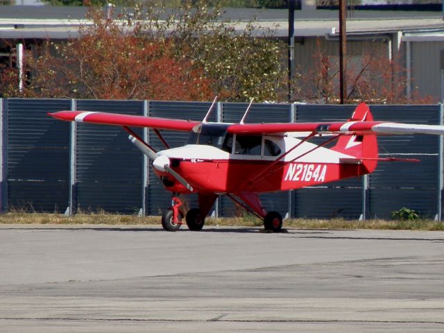
{"label": "grey concrete pavement in the foreground under the airplane", "polygon": [[444,332],[444,233],[0,225],[0,332]]}

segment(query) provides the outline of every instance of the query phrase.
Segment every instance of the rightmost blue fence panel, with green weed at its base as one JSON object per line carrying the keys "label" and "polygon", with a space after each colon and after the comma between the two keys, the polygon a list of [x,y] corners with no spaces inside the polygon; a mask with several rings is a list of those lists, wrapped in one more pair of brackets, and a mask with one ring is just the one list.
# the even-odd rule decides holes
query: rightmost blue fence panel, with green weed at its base
{"label": "rightmost blue fence panel, with green weed at its base", "polygon": [[[439,105],[372,105],[377,120],[440,124]],[[424,216],[438,210],[439,137],[393,135],[378,137],[381,157],[413,158],[415,162],[380,162],[370,175],[370,217],[389,219],[393,210],[408,207]]]}

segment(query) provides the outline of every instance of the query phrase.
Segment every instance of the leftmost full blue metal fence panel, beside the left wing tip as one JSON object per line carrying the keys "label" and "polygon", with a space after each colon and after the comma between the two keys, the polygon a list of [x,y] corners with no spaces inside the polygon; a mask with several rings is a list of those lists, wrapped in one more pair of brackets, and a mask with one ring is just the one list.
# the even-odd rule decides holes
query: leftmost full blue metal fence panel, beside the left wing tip
{"label": "leftmost full blue metal fence panel, beside the left wing tip", "polygon": [[46,112],[69,107],[69,100],[6,100],[9,207],[65,212],[69,201],[69,123],[56,121]]}

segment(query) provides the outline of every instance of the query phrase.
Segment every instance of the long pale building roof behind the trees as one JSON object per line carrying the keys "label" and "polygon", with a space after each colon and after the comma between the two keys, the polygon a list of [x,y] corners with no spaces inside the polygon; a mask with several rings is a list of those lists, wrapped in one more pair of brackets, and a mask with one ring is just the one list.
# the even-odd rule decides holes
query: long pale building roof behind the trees
{"label": "long pale building roof behind the trees", "polygon": [[[85,7],[72,6],[1,6],[0,38],[75,38],[78,37],[78,26],[87,23],[86,12]],[[252,17],[257,17],[260,26],[275,28],[278,37],[288,35],[288,16],[288,10],[255,8],[225,8],[222,14],[233,21],[240,20],[239,29],[244,28]],[[444,31],[441,12],[355,10],[348,12],[348,16],[347,32],[356,35]],[[338,17],[337,10],[296,10],[295,35],[337,34]],[[436,38],[436,33],[434,36]]]}

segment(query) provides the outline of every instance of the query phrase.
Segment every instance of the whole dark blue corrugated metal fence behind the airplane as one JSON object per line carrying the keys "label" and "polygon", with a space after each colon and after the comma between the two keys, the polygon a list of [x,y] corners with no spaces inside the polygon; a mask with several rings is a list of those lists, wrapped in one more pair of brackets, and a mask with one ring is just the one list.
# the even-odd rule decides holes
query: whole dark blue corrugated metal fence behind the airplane
{"label": "whole dark blue corrugated metal fence behind the airplane", "polygon": [[[1,108],[0,210],[75,212],[105,210],[146,215],[169,207],[171,194],[148,167],[146,157],[117,126],[56,121],[46,112],[89,110],[172,119],[203,119],[210,102],[3,99]],[[246,103],[218,103],[210,121],[238,122]],[[343,121],[353,105],[253,104],[246,122]],[[375,119],[442,124],[443,105],[371,105]],[[154,148],[152,130],[137,129]],[[187,133],[162,131],[171,146]],[[430,135],[379,137],[382,156],[418,158],[420,163],[382,162],[370,176],[298,191],[264,194],[268,210],[290,217],[389,218],[409,207],[441,219],[443,139]],[[196,196],[190,196],[190,206]],[[234,214],[228,198],[217,200],[217,216]]]}

